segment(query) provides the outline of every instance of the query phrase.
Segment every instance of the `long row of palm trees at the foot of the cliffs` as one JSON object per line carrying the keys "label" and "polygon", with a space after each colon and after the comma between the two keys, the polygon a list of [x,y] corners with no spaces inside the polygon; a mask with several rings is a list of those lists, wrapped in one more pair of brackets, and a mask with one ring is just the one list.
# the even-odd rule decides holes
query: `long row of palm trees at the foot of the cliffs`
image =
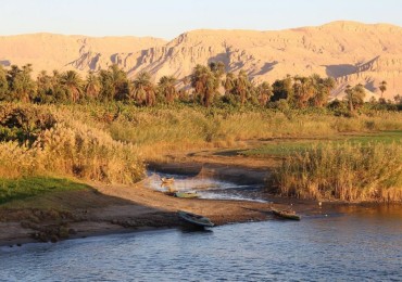
{"label": "long row of palm trees at the foot of the cliffs", "polygon": [[[38,104],[51,103],[86,103],[88,101],[122,101],[137,106],[154,106],[156,104],[173,104],[177,101],[196,103],[203,106],[244,106],[260,105],[272,108],[323,108],[327,106],[335,80],[322,78],[316,74],[309,77],[287,76],[277,79],[272,85],[267,81],[254,84],[246,72],[237,75],[226,73],[221,62],[209,66],[197,65],[189,77],[180,80],[174,76],[163,76],[153,84],[149,73],[139,73],[133,80],[127,74],[111,65],[109,69],[88,73],[86,79],[75,70],[51,75],[42,70],[32,78],[32,65],[18,67],[12,65],[4,69],[0,65],[0,101],[22,101]],[[386,81],[379,86],[382,93],[387,90]],[[353,114],[362,107],[364,88],[362,85],[348,86],[346,100],[330,104],[340,110],[341,114]],[[401,103],[401,97],[394,98]],[[375,108],[398,108],[391,101],[372,101]],[[342,112],[343,111],[343,112]]]}

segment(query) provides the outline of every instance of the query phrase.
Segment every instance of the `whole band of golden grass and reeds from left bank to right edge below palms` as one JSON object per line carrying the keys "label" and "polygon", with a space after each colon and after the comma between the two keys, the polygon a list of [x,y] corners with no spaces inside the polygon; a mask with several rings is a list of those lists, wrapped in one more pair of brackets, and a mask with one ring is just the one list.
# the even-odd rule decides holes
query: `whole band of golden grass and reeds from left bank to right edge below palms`
{"label": "whole band of golden grass and reeds from left bank to right edge below palms", "polygon": [[[21,115],[26,117],[25,126],[14,118]],[[41,106],[2,103],[0,177],[54,172],[130,183],[143,174],[142,159],[160,159],[162,155],[189,150],[240,146],[251,139],[401,130],[401,117],[400,113],[374,113],[346,118],[325,112],[180,104],[136,107],[117,103]],[[22,142],[26,139],[29,142]]]}

